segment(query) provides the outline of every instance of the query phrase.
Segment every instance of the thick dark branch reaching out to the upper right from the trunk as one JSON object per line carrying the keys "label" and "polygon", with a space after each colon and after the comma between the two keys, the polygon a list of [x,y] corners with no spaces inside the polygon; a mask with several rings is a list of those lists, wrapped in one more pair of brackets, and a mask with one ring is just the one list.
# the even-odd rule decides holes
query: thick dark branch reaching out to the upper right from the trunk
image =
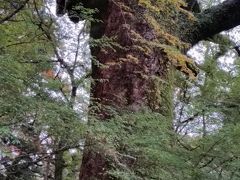
{"label": "thick dark branch reaching out to the upper right from the trunk", "polygon": [[190,42],[196,44],[222,31],[229,30],[240,24],[240,1],[226,0],[197,15],[198,21],[193,26]]}

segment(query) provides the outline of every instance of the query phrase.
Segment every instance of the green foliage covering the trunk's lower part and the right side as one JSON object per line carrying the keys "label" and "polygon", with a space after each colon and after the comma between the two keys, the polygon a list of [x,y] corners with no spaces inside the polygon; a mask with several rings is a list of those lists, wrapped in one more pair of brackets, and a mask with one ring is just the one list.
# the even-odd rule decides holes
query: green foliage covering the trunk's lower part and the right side
{"label": "green foliage covering the trunk's lower part and the right side", "polygon": [[94,150],[107,154],[113,179],[239,179],[239,66],[224,69],[219,58],[231,43],[214,41],[222,43],[205,44],[199,81],[177,77],[186,107],[175,132],[168,117],[149,111],[91,122]]}

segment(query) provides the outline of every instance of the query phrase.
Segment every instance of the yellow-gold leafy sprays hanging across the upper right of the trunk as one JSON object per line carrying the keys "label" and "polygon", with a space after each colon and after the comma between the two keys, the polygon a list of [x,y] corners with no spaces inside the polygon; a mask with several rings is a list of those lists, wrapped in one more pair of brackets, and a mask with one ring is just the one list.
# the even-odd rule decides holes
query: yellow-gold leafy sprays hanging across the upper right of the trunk
{"label": "yellow-gold leafy sprays hanging across the upper right of the trunk", "polygon": [[[190,21],[194,21],[194,16],[182,8],[186,6],[185,2],[179,0],[139,0],[138,4],[146,8],[147,11],[142,15],[142,18],[153,28],[158,40],[147,41],[140,34],[131,30],[130,35],[134,44],[138,44],[135,47],[145,55],[151,54],[154,48],[159,49],[160,52],[164,52],[164,58],[170,64],[190,79],[195,79],[198,73],[197,67],[192,59],[182,53],[190,45],[179,38],[181,37],[181,28],[179,27],[178,31],[178,19],[170,17],[173,14],[178,14],[178,16],[182,14],[182,16],[187,16]],[[167,23],[163,19],[167,19]],[[175,28],[174,34],[171,31],[172,27]]]}

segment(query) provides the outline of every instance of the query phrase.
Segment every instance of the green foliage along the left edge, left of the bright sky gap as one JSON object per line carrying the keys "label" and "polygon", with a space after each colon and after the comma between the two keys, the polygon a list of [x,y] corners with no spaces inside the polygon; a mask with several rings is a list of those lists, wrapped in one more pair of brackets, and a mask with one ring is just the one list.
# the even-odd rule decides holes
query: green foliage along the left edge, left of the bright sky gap
{"label": "green foliage along the left edge, left of the bright sky gap", "polygon": [[[28,8],[0,26],[0,151],[5,159],[0,175],[8,179],[43,176],[46,167],[38,163],[52,161],[55,151],[79,148],[85,133],[79,113],[54,96],[61,93],[64,82],[47,77],[56,63],[56,27],[52,19],[38,14],[41,3],[29,2]],[[10,1],[2,5],[11,13]],[[16,151],[20,155],[14,155]]]}

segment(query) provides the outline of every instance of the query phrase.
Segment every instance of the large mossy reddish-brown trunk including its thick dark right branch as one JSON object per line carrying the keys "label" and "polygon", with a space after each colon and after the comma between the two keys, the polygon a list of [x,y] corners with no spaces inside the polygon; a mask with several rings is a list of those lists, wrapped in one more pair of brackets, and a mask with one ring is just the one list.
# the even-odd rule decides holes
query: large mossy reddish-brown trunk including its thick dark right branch
{"label": "large mossy reddish-brown trunk including its thick dark right branch", "polygon": [[[97,16],[102,23],[92,24],[91,36],[104,35],[118,43],[114,48],[92,50],[102,64],[93,66],[92,86],[93,101],[100,107],[95,113],[100,120],[112,116],[110,107],[117,112],[147,108],[171,121],[172,71],[178,69],[190,78],[197,75],[194,63],[184,53],[199,40],[240,24],[238,0],[229,0],[197,15],[188,11],[181,0],[81,2],[100,9]],[[222,17],[225,25],[220,23]],[[86,141],[81,180],[110,179],[108,171],[114,163],[131,166],[131,161],[121,162],[111,153],[90,146],[93,139]]]}

